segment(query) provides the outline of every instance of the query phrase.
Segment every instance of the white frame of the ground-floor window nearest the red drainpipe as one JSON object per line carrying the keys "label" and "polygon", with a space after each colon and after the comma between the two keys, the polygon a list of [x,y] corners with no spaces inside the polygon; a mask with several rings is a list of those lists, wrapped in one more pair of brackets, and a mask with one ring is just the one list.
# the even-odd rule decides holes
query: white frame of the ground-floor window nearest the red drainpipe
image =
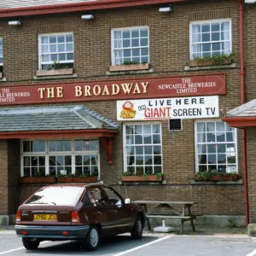
{"label": "white frame of the ground-floor window nearest the red drainpipe", "polygon": [[[207,123],[207,122],[223,122],[221,119],[201,119],[201,120],[195,120],[194,123],[194,131],[195,131],[195,172],[199,172],[199,163],[198,163],[198,151],[197,151],[197,124],[198,123]],[[232,166],[236,166],[236,172],[238,172],[238,152],[237,152],[237,129],[235,128],[236,131],[236,137],[235,137],[235,142],[236,143],[236,165],[232,164]],[[204,143],[204,144],[210,144],[210,143]],[[212,144],[224,144],[223,142],[218,143],[218,142],[213,142]],[[229,144],[225,142],[225,144]],[[217,153],[216,153],[217,154]],[[226,153],[225,153],[226,154]],[[217,159],[218,160],[218,159]],[[216,164],[218,165],[218,163]],[[208,166],[208,164],[207,164]]]}

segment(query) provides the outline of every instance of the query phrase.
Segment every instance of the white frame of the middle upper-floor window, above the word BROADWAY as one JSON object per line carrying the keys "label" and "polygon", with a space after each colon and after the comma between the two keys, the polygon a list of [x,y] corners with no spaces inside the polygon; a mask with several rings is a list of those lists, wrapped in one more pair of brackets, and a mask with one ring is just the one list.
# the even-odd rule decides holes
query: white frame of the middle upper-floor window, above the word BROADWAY
{"label": "white frame of the middle upper-floor window, above the word BROADWAY", "polygon": [[[117,64],[115,64],[115,59],[114,59],[114,38],[113,38],[113,33],[117,32],[117,31],[129,31],[129,30],[133,30],[133,29],[148,29],[148,63],[149,63],[149,58],[150,58],[150,50],[149,50],[149,26],[126,26],[126,27],[119,27],[119,28],[113,28],[111,29],[111,61],[112,61],[112,65],[115,66]],[[123,39],[122,39],[123,40]],[[142,49],[142,48],[146,48],[146,47],[141,47],[141,46],[137,46],[137,47],[128,47],[127,49]],[[125,48],[120,48],[120,49],[125,49]],[[124,58],[124,54],[122,55],[122,57]],[[142,57],[142,55],[139,55],[140,59]]]}

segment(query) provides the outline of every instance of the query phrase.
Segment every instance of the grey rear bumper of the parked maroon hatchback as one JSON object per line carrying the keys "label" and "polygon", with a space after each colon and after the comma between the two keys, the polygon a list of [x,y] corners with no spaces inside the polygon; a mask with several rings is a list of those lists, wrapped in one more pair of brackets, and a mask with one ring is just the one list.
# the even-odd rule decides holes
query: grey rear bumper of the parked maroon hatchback
{"label": "grey rear bumper of the parked maroon hatchback", "polygon": [[[33,237],[47,239],[83,239],[86,237],[90,225],[83,226],[29,226],[15,225],[15,231],[19,237]],[[22,231],[26,231],[26,235],[22,235]],[[62,232],[66,231],[66,235]]]}

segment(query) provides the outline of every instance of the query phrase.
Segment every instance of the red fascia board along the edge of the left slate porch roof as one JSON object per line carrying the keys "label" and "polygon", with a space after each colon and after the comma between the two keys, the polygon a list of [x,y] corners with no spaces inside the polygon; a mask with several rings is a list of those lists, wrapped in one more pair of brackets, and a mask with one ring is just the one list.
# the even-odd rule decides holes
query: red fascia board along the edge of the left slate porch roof
{"label": "red fascia board along the edge of the left slate porch roof", "polygon": [[115,137],[118,130],[61,130],[61,131],[0,131],[1,139],[60,138],[60,137]]}

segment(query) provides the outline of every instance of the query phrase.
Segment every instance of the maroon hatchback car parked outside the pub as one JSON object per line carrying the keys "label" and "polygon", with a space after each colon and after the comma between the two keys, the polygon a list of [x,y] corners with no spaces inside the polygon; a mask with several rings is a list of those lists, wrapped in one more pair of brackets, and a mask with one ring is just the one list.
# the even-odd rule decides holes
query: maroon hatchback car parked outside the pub
{"label": "maroon hatchback car parked outside the pub", "polygon": [[93,251],[102,236],[143,236],[143,209],[102,184],[54,184],[39,189],[17,211],[15,231],[24,247],[40,241],[78,240]]}

